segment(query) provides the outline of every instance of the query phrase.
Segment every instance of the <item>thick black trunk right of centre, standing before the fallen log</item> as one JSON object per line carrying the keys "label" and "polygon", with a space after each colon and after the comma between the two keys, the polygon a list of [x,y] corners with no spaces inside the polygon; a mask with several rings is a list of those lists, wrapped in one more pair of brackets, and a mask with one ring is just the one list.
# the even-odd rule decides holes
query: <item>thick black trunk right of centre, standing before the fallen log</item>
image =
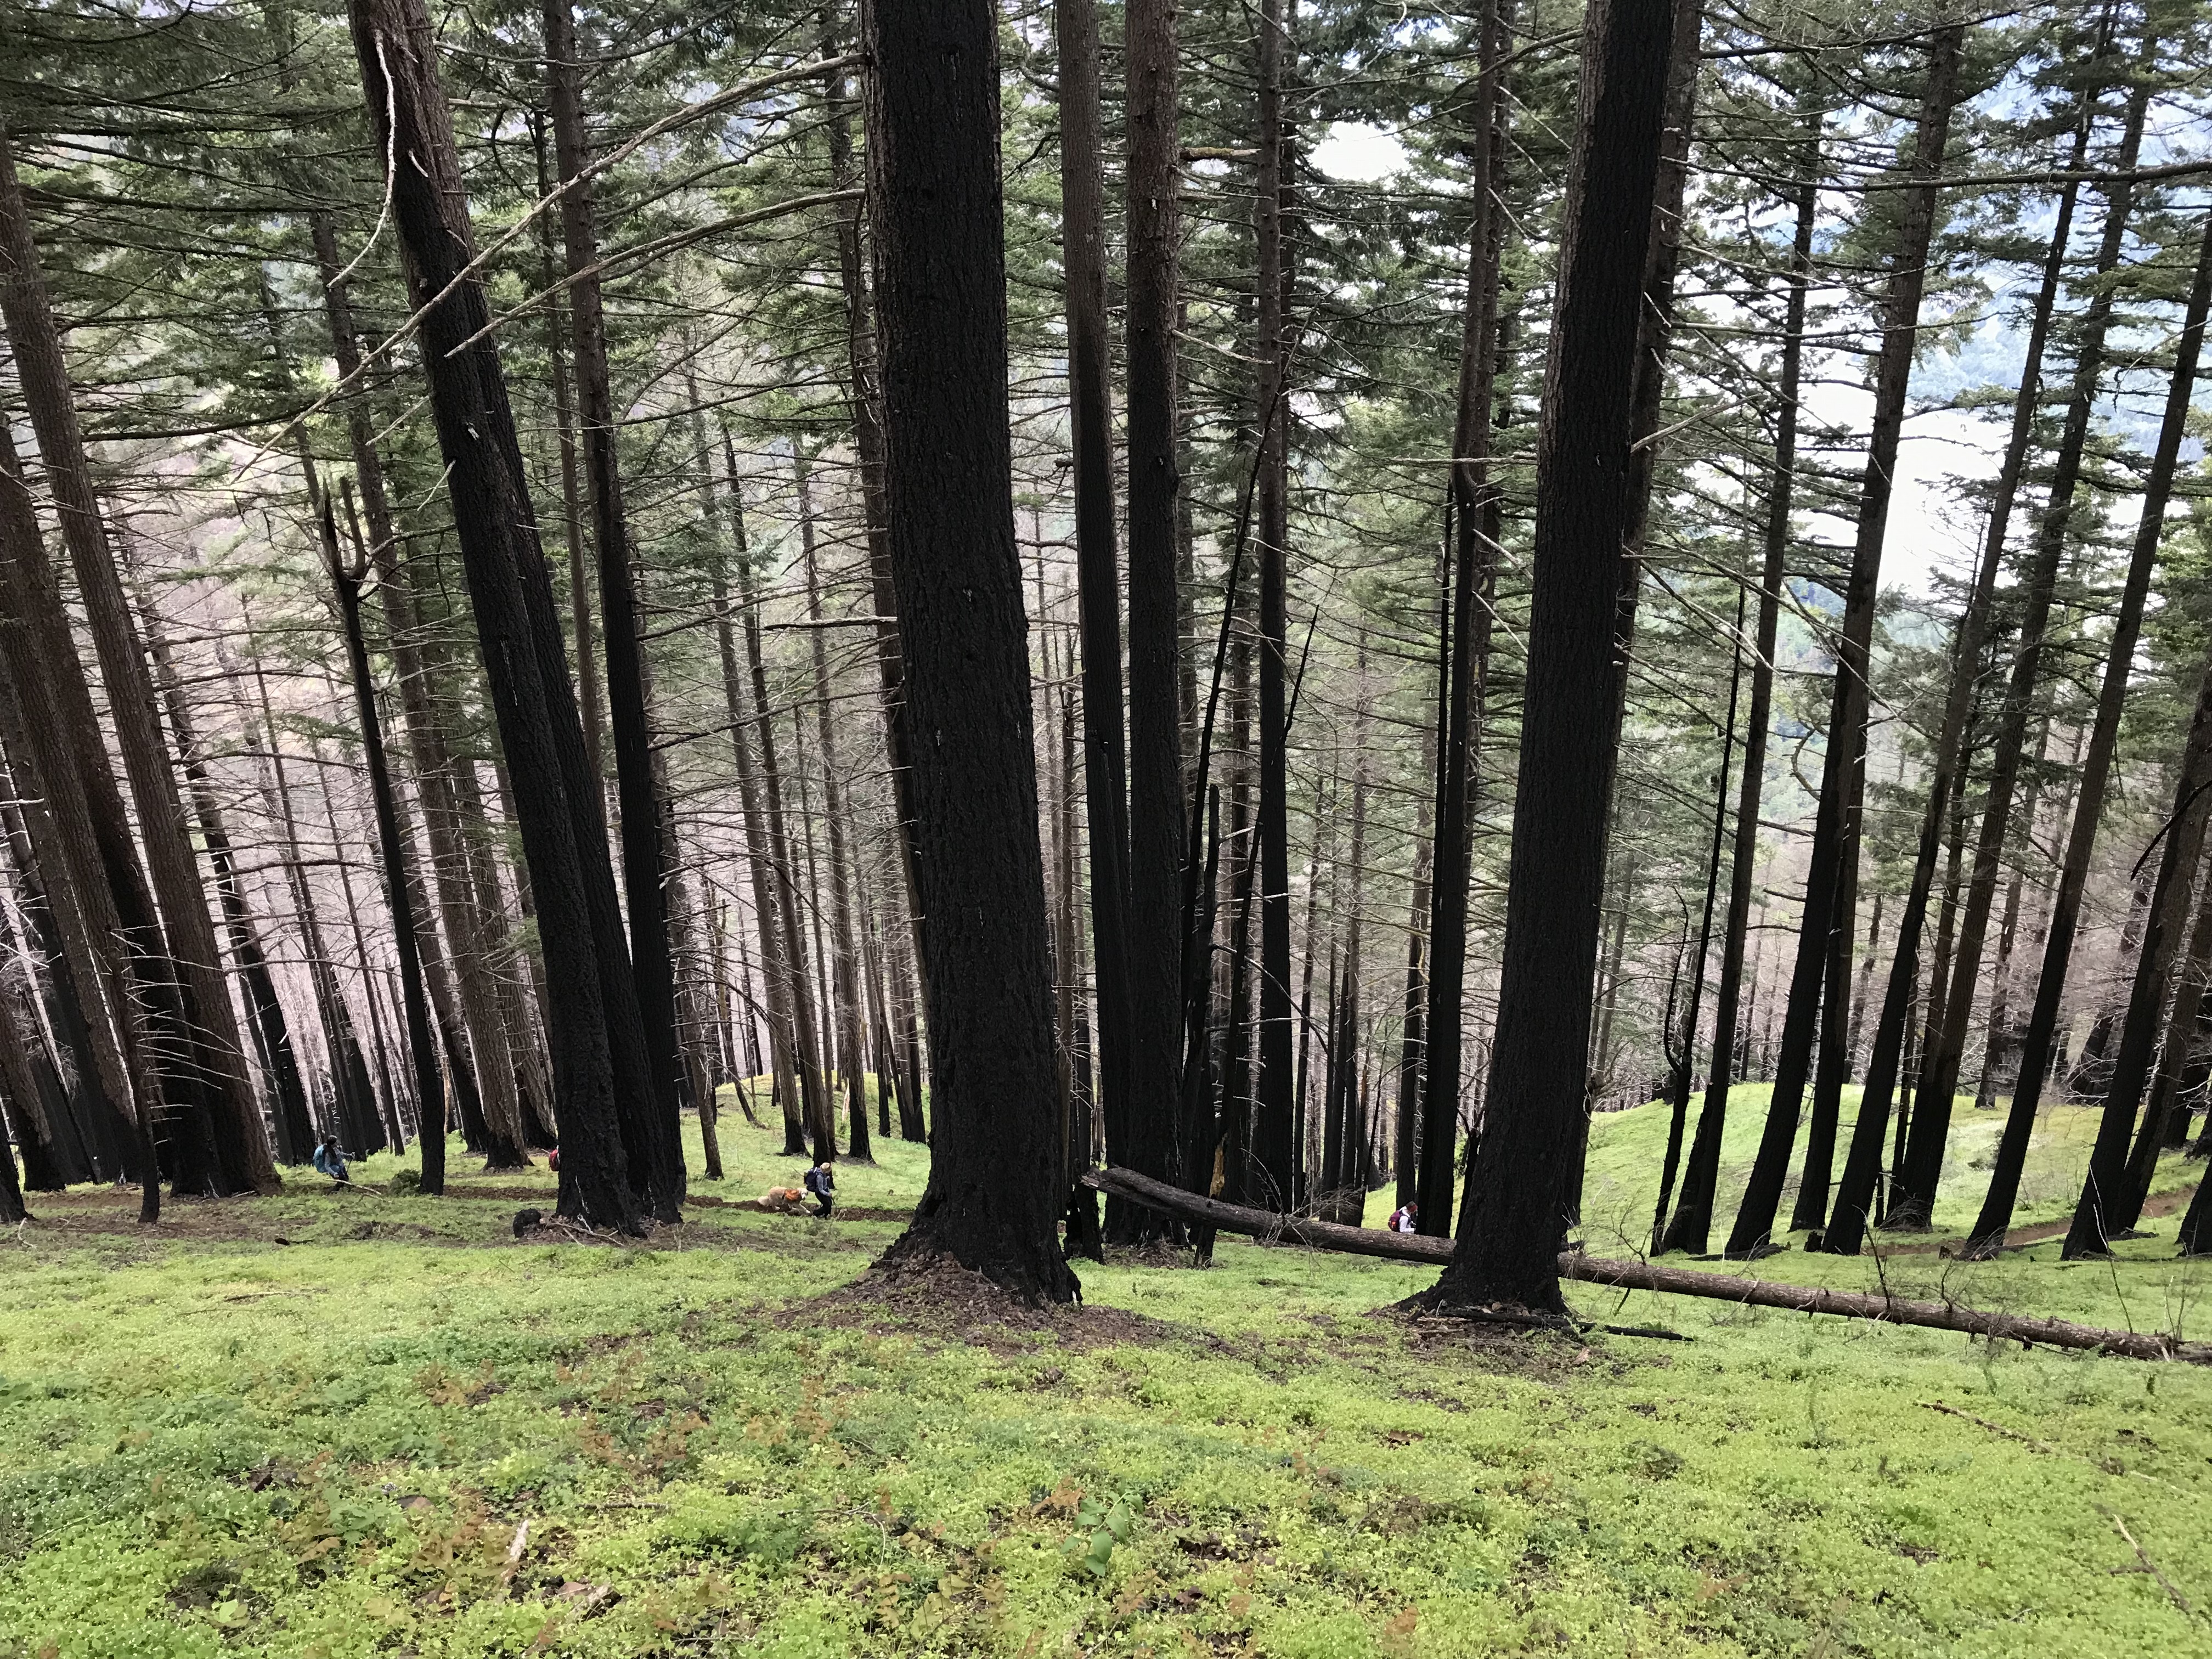
{"label": "thick black trunk right of centre, standing before the fallen log", "polygon": [[1630,403],[1677,0],[1595,0],[1566,184],[1537,445],[1535,593],[1513,880],[1482,1152],[1431,1307],[1564,1316],[1559,1245],[1579,1144],[1606,885],[1613,619],[1630,515]]}

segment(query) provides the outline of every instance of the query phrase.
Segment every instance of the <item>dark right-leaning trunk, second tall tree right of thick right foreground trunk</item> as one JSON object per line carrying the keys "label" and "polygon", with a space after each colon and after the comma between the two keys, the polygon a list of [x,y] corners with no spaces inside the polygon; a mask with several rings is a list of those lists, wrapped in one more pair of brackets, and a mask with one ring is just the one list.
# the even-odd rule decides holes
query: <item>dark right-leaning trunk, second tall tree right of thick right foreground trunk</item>
{"label": "dark right-leaning trunk, second tall tree right of thick right foreground trunk", "polygon": [[1882,347],[1874,369],[1874,429],[1867,440],[1867,471],[1858,489],[1858,535],[1851,575],[1843,595],[1843,628],[1836,641],[1836,688],[1829,699],[1827,754],[1820,772],[1820,807],[1814,816],[1812,860],[1805,876],[1805,916],[1798,931],[1790,1002],[1783,1011],[1783,1046],[1774,1068],[1774,1095],[1752,1159],[1752,1177],[1728,1234],[1730,1256],[1752,1256],[1770,1245],[1774,1212],[1781,1208],[1790,1150],[1796,1141],[1798,1108],[1812,1066],[1814,1022],[1820,987],[1829,975],[1832,929],[1851,931],[1838,914],[1845,863],[1858,863],[1858,818],[1849,812],[1851,779],[1867,741],[1867,648],[1874,637],[1876,580],[1882,571],[1882,538],[1889,529],[1889,493],[1898,467],[1905,425],[1905,394],[1911,387],[1913,349],[1920,341],[1920,294],[1927,288],[1929,241],[1936,234],[1936,177],[1958,102],[1958,66],[1964,29],[1938,29],[1929,44],[1929,77],[1920,97],[1920,124],[1907,166],[1911,188],[1898,221],[1882,296]]}

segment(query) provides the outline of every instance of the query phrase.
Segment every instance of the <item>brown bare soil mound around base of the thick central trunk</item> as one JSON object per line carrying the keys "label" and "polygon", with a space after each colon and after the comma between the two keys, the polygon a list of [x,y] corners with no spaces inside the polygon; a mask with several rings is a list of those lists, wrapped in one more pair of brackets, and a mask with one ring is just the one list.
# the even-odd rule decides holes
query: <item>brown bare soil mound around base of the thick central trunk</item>
{"label": "brown bare soil mound around base of the thick central trunk", "polygon": [[792,1303],[783,1318],[792,1325],[832,1325],[880,1336],[951,1338],[993,1354],[1035,1354],[1044,1345],[1084,1352],[1197,1336],[1181,1325],[1119,1307],[1024,1303],[982,1274],[942,1259],[898,1272],[872,1267],[849,1285]]}

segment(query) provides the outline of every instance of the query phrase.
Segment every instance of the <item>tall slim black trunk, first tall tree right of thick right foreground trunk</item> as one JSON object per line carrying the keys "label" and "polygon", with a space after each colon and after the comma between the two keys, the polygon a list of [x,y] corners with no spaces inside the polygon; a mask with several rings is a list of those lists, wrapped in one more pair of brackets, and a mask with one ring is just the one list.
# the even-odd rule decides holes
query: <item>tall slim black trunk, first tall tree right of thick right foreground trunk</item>
{"label": "tall slim black trunk, first tall tree right of thick right foreground trunk", "polygon": [[[1774,710],[1774,641],[1778,637],[1783,577],[1790,562],[1790,511],[1796,495],[1798,387],[1805,369],[1805,301],[1812,279],[1812,232],[1820,192],[1820,113],[1803,115],[1809,133],[1796,146],[1798,199],[1796,239],[1790,252],[1790,301],[1783,316],[1783,361],[1774,398],[1774,469],[1767,480],[1763,566],[1759,575],[1759,624],[1752,657],[1752,703],[1743,721],[1743,783],[1736,790],[1736,838],[1730,847],[1728,925],[1721,936],[1721,982],[1712,1004],[1712,1071],[1697,1135],[1681,1175],[1674,1219],[1657,1243],[1657,1254],[1688,1250],[1705,1254],[1712,1234],[1712,1201],[1721,1183],[1721,1130],[1728,1124],[1728,1091],[1736,1075],[1736,1031],[1743,1022],[1743,942],[1752,920],[1752,878],[1759,874],[1759,803],[1767,781],[1767,726]],[[1756,984],[1756,971],[1752,975]]]}

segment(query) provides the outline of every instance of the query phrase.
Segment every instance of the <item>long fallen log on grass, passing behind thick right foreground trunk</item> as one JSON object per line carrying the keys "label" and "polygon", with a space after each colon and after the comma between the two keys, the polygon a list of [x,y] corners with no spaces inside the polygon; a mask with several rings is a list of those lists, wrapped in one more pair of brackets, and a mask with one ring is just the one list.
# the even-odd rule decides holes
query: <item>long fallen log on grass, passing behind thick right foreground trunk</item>
{"label": "long fallen log on grass, passing behind thick right foreground trunk", "polygon": [[[1254,1239],[1303,1243],[1314,1250],[1340,1250],[1354,1256],[1420,1261],[1431,1267],[1442,1267],[1451,1261],[1451,1239],[1425,1239],[1411,1232],[1383,1232],[1378,1228],[1343,1228],[1334,1221],[1301,1221],[1296,1217],[1272,1214],[1270,1210],[1248,1210],[1241,1203],[1221,1203],[1221,1199],[1183,1192],[1133,1170],[1093,1170],[1084,1177],[1084,1186],[1093,1186],[1099,1192],[1117,1192],[1124,1199],[1181,1217],[1183,1221],[1199,1221],[1219,1232],[1248,1232]],[[1579,1279],[1590,1285],[1619,1285],[1621,1290],[1657,1290],[1670,1296],[1708,1296],[1752,1307],[1781,1307],[1790,1314],[1840,1314],[1845,1318],[1876,1318],[1889,1325],[1966,1332],[1969,1336],[2017,1340],[2022,1345],[2077,1347],[2097,1354],[2119,1354],[2130,1360],[2212,1365],[2212,1343],[2181,1343],[2154,1332],[2108,1332],[2064,1318],[1989,1314],[1955,1303],[1916,1303],[1856,1290],[1823,1290],[1818,1285],[1778,1285],[1772,1279],[1701,1274],[1688,1267],[1659,1267],[1646,1261],[1606,1261],[1604,1256],[1586,1256],[1579,1250],[1559,1252],[1559,1276]]]}

